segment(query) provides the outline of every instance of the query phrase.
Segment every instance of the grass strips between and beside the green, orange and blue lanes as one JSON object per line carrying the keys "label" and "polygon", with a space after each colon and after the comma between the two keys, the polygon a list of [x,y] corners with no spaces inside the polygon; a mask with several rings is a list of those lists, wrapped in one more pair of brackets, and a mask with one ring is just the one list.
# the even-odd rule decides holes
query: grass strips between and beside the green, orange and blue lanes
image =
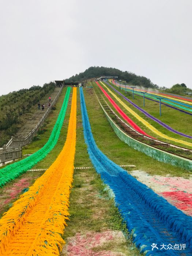
{"label": "grass strips between and beside the green, orange and blue lanes", "polygon": [[[56,104],[56,110],[48,117],[47,131],[41,135],[41,139],[35,142],[31,142],[29,145],[23,147],[23,154],[34,153],[41,148],[50,135],[53,125],[57,119],[61,105],[63,103],[65,88],[62,91],[59,100]],[[61,128],[60,138],[54,149],[33,169],[48,168],[56,159],[64,146],[68,121],[71,110],[71,95],[69,98],[69,105],[67,108],[63,127]],[[171,176],[189,177],[189,172],[182,170],[179,167],[174,167],[169,164],[158,162],[133,150],[127,144],[122,142],[114,133],[108,120],[106,119],[99,102],[97,101],[96,94],[93,88],[84,89],[84,97],[86,101],[87,111],[89,114],[89,120],[94,139],[100,150],[103,151],[112,161],[119,165],[134,164],[137,170],[146,171],[148,174],[159,174]],[[70,208],[69,208],[69,221],[68,226],[65,229],[64,240],[67,245],[70,243],[70,238],[74,238],[76,235],[93,236],[93,234],[100,234],[106,230],[120,231],[123,230],[127,235],[127,240],[114,243],[113,241],[108,244],[105,243],[101,247],[93,248],[93,252],[100,251],[114,251],[124,253],[127,256],[140,255],[139,250],[132,244],[131,235],[122,224],[120,213],[117,208],[114,207],[113,199],[110,199],[108,193],[105,191],[102,180],[99,174],[96,173],[93,168],[89,155],[87,153],[87,146],[84,143],[83,127],[82,127],[82,115],[80,110],[80,98],[79,90],[77,97],[77,139],[76,139],[76,154],[75,154],[75,167],[91,166],[91,169],[75,169],[74,170],[74,182],[70,195]],[[131,167],[125,167],[129,172]],[[0,216],[3,212],[8,210],[12,206],[12,203],[22,193],[22,189],[26,189],[34,183],[34,181],[41,176],[44,171],[26,172],[12,182],[6,184],[3,188],[0,188]],[[22,183],[23,182],[23,183]],[[18,185],[19,184],[19,185]],[[9,200],[10,193],[13,194],[13,190],[17,188]],[[20,190],[19,190],[20,189]],[[68,242],[69,241],[69,242]],[[64,248],[65,249],[65,248]],[[66,255],[65,251],[61,255]]]}

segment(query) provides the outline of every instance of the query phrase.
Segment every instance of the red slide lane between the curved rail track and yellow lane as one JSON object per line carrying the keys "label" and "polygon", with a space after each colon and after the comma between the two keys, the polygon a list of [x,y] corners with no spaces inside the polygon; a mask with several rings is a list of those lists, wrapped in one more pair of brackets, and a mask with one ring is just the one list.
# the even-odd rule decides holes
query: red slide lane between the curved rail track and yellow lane
{"label": "red slide lane between the curved rail track and yellow lane", "polygon": [[155,139],[154,137],[151,137],[146,132],[144,132],[138,125],[136,125],[131,118],[129,118],[123,110],[120,109],[120,107],[113,101],[113,99],[109,96],[109,94],[101,87],[101,85],[98,82],[95,82],[99,88],[102,90],[102,92],[105,94],[105,96],[109,99],[110,103],[114,106],[114,108],[117,110],[117,112],[126,120],[136,131],[142,133],[143,135],[146,135],[150,138]]}

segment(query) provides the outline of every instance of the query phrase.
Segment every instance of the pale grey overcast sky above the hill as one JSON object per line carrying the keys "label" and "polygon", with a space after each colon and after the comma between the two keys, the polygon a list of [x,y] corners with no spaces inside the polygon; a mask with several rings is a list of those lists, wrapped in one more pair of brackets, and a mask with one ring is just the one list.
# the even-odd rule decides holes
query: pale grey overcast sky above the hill
{"label": "pale grey overcast sky above the hill", "polygon": [[191,14],[191,0],[0,0],[0,95],[94,65],[192,88]]}

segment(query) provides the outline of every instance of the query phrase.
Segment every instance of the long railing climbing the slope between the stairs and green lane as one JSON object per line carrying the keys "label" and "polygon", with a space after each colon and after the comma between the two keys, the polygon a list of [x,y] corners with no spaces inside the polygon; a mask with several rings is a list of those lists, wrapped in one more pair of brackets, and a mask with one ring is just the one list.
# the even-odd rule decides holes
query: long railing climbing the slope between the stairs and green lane
{"label": "long railing climbing the slope between the stairs and green lane", "polygon": [[37,133],[39,127],[42,125],[42,123],[45,121],[45,118],[48,117],[52,106],[56,103],[57,99],[59,98],[59,95],[61,94],[63,87],[61,87],[61,90],[54,98],[53,102],[51,103],[48,110],[45,112],[45,114],[42,116],[41,120],[38,122],[38,124],[35,126],[35,128],[25,137],[22,136],[12,136],[10,141],[7,143],[6,147],[22,147],[25,146],[29,141],[34,137],[35,133]]}

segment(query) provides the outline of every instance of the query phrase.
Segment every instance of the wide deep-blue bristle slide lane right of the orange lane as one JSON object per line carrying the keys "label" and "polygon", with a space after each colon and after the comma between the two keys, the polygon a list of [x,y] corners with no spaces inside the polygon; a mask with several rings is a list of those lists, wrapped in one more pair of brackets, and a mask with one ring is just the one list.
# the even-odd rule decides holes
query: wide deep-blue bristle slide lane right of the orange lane
{"label": "wide deep-blue bristle slide lane right of the orange lane", "polygon": [[[132,234],[133,242],[147,256],[191,255],[192,218],[137,181],[99,150],[91,132],[82,88],[80,102],[89,157],[103,182],[114,192],[116,206]],[[152,251],[153,243],[157,244],[158,249]],[[163,244],[186,244],[186,248],[160,250]]]}

